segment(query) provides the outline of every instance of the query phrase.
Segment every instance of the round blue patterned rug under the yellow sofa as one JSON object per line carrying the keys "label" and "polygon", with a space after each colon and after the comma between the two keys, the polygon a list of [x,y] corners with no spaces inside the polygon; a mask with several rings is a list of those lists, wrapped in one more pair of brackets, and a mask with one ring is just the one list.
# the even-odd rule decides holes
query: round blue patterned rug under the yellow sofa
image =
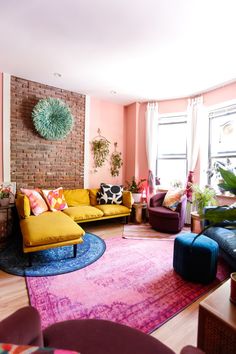
{"label": "round blue patterned rug under the yellow sofa", "polygon": [[73,257],[73,246],[51,248],[32,253],[32,266],[22,251],[19,242],[12,242],[0,251],[0,269],[7,273],[43,277],[73,272],[87,267],[98,260],[106,249],[105,242],[98,236],[86,233],[84,242],[77,245],[77,257]]}

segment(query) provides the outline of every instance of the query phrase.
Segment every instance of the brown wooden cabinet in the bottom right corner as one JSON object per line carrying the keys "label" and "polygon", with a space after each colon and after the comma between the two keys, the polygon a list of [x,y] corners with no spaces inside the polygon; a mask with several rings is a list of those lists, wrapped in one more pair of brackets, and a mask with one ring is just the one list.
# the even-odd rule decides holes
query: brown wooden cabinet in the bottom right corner
{"label": "brown wooden cabinet in the bottom right corner", "polygon": [[200,302],[198,347],[206,354],[236,353],[236,305],[229,297],[230,280]]}

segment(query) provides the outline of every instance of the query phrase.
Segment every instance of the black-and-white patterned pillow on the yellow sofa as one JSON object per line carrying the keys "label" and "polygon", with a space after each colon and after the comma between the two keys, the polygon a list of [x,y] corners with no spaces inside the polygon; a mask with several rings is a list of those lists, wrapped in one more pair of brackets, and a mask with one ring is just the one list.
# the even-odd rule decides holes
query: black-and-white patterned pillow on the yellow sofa
{"label": "black-and-white patterned pillow on the yellow sofa", "polygon": [[100,188],[97,195],[98,204],[122,204],[122,186],[101,183]]}

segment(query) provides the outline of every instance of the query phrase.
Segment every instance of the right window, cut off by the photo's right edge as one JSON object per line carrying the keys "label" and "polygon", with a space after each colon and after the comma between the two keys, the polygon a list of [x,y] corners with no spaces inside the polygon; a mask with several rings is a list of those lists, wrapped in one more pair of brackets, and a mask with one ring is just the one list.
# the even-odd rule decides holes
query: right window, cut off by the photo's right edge
{"label": "right window, cut off by the photo's right edge", "polygon": [[[215,164],[236,168],[236,105],[220,108],[209,113],[209,170]],[[209,175],[208,183],[218,191],[219,175]]]}

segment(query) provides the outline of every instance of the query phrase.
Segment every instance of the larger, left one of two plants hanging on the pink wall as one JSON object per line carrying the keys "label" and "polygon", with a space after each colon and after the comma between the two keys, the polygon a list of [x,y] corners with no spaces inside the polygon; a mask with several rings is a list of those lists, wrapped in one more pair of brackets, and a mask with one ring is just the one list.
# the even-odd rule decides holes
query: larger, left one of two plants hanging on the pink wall
{"label": "larger, left one of two plants hanging on the pink wall", "polygon": [[91,149],[93,153],[94,167],[102,167],[109,154],[110,142],[100,135],[101,131],[98,129],[98,137],[91,142]]}

